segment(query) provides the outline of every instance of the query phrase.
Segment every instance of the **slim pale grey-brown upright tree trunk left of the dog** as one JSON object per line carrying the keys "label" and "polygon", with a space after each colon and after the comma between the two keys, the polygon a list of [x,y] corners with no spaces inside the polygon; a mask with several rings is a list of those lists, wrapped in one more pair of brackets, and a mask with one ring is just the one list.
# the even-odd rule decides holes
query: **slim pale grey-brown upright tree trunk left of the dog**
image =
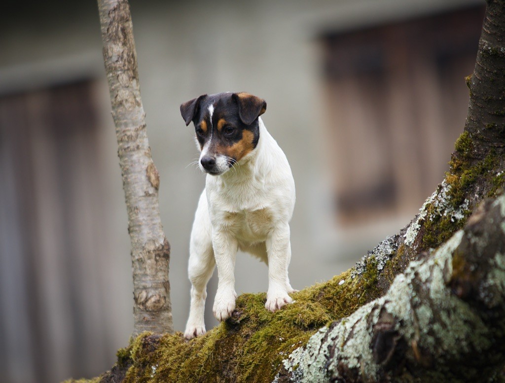
{"label": "slim pale grey-brown upright tree trunk left of the dog", "polygon": [[170,245],[161,224],[160,177],[147,140],[130,8],[127,0],[98,0],[98,11],[128,210],[133,333],[171,333]]}

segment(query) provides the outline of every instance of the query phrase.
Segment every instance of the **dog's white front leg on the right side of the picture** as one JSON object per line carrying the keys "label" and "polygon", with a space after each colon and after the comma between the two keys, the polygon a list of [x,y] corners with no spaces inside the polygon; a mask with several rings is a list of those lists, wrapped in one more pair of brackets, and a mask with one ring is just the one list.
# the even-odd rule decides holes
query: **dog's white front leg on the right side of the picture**
{"label": "dog's white front leg on the right side of the picture", "polygon": [[[291,258],[289,225],[276,228],[267,239],[268,292],[265,307],[272,312],[293,300],[288,295],[287,268]],[[292,290],[291,286],[289,289]]]}

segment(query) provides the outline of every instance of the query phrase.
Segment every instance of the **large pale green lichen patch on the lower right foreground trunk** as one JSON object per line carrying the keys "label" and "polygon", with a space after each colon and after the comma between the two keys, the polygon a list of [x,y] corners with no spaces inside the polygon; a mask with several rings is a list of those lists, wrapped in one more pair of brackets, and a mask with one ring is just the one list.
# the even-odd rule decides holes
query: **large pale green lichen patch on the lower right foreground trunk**
{"label": "large pale green lichen patch on the lower right foreground trunk", "polygon": [[[328,376],[324,375],[325,366],[321,365],[321,358],[316,360],[315,356],[321,350],[327,352],[329,349],[333,350],[333,355],[326,368],[332,377],[341,377],[338,364],[343,362],[346,368],[360,371],[367,379],[375,379],[381,367],[374,362],[370,345],[372,326],[377,322],[381,308],[395,319],[394,328],[407,344],[416,342],[424,349],[434,350],[435,346],[443,342],[443,349],[457,350],[477,342],[484,331],[479,325],[479,319],[473,313],[467,316],[459,314],[461,310],[457,310],[456,306],[465,303],[450,294],[443,278],[444,268],[450,263],[463,235],[463,231],[457,232],[431,257],[411,262],[405,274],[396,276],[386,295],[360,307],[347,318],[334,322],[329,330],[324,327],[311,338],[305,348],[291,353],[283,364],[287,371],[292,371],[293,381],[323,381],[317,380],[323,377],[327,380]],[[416,294],[425,297],[428,295],[429,303],[412,306]],[[442,317],[441,323],[435,326],[432,324],[432,307],[443,307],[443,312],[451,314],[439,315]],[[477,323],[477,327],[469,329],[466,323]],[[420,329],[423,329],[422,336]]]}

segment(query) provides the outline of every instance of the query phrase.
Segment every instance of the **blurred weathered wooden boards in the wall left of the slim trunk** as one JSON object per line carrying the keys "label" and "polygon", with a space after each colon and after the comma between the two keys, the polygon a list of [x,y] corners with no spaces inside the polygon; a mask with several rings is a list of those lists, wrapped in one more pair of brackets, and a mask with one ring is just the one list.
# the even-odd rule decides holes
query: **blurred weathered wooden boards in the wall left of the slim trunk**
{"label": "blurred weathered wooden boards in the wall left of the slim trunk", "polygon": [[0,304],[9,308],[0,369],[9,382],[98,374],[112,362],[111,209],[94,86],[0,97]]}

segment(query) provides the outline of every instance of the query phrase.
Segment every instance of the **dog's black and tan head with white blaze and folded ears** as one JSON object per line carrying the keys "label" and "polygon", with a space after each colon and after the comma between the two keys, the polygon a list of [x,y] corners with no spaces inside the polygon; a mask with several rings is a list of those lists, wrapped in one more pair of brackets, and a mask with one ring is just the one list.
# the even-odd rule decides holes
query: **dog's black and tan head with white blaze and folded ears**
{"label": "dog's black and tan head with white blaze and folded ears", "polygon": [[186,126],[194,124],[200,169],[221,175],[252,152],[260,139],[258,117],[266,110],[265,100],[248,93],[203,94],[181,104]]}

